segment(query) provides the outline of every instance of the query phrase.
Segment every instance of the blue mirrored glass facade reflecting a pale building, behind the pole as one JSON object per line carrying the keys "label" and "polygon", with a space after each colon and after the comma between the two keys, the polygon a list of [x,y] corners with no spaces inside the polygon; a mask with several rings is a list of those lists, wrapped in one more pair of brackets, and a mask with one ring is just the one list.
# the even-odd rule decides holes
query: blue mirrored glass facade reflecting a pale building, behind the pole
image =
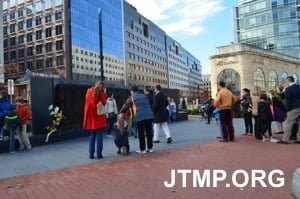
{"label": "blue mirrored glass facade reflecting a pale building, behind the pole", "polygon": [[99,80],[102,65],[106,80],[124,84],[123,1],[71,0],[70,13],[73,79]]}

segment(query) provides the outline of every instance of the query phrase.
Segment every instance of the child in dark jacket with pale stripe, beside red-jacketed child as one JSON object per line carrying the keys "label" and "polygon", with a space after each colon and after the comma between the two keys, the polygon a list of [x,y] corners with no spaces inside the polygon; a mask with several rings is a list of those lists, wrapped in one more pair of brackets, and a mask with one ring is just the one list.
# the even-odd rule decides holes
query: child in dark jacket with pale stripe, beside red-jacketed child
{"label": "child in dark jacket with pale stripe, beside red-jacketed child", "polygon": [[9,131],[9,152],[15,152],[15,135],[18,127],[22,126],[21,118],[19,117],[16,106],[11,104],[9,105],[8,112],[4,120],[5,129]]}

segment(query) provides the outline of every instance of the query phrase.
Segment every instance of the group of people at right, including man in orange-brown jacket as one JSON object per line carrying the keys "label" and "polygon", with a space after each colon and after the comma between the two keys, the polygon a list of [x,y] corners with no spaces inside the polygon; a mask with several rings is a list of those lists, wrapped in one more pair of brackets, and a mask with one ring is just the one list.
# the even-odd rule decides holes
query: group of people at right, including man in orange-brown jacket
{"label": "group of people at right, including man in orange-brown jacket", "polygon": [[[213,114],[220,130],[220,142],[235,139],[232,107],[238,103],[245,122],[243,135],[254,134],[256,139],[264,142],[289,144],[293,131],[298,129],[295,143],[300,143],[300,85],[292,76],[287,77],[284,86],[279,85],[274,91],[264,92],[257,87],[251,95],[251,91],[244,88],[240,98],[226,88],[224,82],[219,82]],[[274,138],[272,122],[276,122],[275,133],[283,134],[281,140]]]}

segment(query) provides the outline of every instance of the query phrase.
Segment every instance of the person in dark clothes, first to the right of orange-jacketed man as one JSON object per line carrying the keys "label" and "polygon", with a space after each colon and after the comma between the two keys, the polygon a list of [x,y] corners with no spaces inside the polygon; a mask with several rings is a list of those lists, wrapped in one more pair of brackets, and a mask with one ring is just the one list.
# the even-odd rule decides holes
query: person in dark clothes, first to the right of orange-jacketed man
{"label": "person in dark clothes, first to the right of orange-jacketed man", "polygon": [[250,90],[248,88],[243,89],[243,96],[241,100],[242,113],[245,121],[245,133],[244,135],[253,135],[252,124],[252,99],[250,96]]}

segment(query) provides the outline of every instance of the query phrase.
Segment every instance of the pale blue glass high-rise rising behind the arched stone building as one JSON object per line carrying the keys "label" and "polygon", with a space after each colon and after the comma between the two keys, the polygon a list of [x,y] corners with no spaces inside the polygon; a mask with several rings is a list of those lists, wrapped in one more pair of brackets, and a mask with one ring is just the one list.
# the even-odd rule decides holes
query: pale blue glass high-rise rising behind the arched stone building
{"label": "pale blue glass high-rise rising behind the arched stone building", "polygon": [[235,8],[236,43],[300,58],[300,2],[240,0]]}

